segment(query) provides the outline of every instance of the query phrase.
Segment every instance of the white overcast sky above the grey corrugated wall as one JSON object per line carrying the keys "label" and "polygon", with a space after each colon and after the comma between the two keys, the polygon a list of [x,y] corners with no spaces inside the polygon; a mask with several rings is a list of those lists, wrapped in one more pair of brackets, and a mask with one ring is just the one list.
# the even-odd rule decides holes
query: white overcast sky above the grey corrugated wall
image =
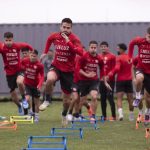
{"label": "white overcast sky above the grey corrugated wall", "polygon": [[150,0],[0,0],[0,24],[150,22]]}

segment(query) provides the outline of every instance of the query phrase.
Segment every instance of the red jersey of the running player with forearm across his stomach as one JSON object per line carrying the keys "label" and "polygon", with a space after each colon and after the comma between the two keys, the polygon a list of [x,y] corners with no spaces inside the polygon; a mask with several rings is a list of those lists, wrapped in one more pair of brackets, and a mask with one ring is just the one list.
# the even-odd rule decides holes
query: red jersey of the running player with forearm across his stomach
{"label": "red jersey of the running player with forearm across his stomach", "polygon": [[102,59],[99,55],[95,57],[89,52],[86,52],[79,61],[79,71],[82,69],[84,72],[95,72],[96,75],[93,78],[87,78],[79,73],[79,80],[98,80],[98,67],[103,65]]}

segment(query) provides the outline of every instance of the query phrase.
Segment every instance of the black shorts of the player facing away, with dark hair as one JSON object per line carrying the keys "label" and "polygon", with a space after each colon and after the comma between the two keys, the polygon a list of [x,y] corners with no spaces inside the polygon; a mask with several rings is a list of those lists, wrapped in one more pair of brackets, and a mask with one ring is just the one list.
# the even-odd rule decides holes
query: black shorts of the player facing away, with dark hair
{"label": "black shorts of the player facing away, with dark hair", "polygon": [[118,92],[133,93],[132,80],[117,81],[116,82],[116,93],[118,93]]}

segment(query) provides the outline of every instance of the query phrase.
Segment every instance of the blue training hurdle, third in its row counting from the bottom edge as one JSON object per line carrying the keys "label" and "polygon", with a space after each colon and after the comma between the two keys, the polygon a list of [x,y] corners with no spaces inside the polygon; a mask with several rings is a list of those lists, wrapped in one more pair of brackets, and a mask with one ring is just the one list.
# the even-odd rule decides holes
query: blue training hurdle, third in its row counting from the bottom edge
{"label": "blue training hurdle, third in its row counting from the bottom edge", "polygon": [[72,128],[93,128],[98,129],[97,120],[77,120],[71,121]]}

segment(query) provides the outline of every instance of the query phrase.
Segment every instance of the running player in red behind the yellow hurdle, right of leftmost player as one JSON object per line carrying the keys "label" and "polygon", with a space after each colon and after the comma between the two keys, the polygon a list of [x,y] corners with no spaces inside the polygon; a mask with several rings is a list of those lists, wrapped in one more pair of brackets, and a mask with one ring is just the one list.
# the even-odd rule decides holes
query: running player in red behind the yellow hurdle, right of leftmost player
{"label": "running player in red behind the yellow hurdle, right of leftmost player", "polygon": [[[21,68],[24,71],[25,97],[27,101],[33,98],[35,104],[34,121],[39,121],[39,102],[40,88],[44,81],[44,67],[38,60],[38,51],[33,50],[29,58],[25,58],[21,62]],[[30,107],[30,114],[32,107]]]}

